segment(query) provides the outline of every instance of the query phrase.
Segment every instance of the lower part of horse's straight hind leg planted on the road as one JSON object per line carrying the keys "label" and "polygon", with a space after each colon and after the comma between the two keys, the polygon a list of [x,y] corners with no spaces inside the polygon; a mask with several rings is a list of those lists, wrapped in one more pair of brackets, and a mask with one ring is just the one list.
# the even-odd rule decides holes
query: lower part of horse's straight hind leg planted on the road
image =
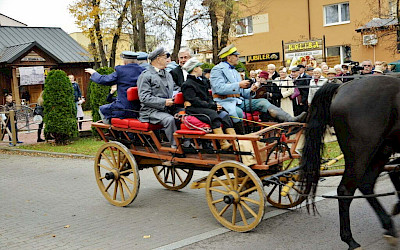
{"label": "lower part of horse's straight hind leg planted on the road", "polygon": [[[338,196],[353,196],[356,191],[357,187],[354,181],[347,176],[345,171],[337,189]],[[349,245],[349,249],[357,249],[361,246],[353,239],[350,228],[350,204],[352,201],[353,199],[339,199],[340,238]]]}

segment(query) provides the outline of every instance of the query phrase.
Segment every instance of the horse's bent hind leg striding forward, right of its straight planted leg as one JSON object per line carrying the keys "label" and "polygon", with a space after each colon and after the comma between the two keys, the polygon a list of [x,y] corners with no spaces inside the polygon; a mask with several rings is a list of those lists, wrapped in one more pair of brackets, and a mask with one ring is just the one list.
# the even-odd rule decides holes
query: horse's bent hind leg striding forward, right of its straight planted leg
{"label": "horse's bent hind leg striding forward, right of its straight planted leg", "polygon": [[[374,194],[374,186],[376,183],[376,179],[381,173],[381,170],[383,169],[386,162],[387,158],[384,155],[377,154],[372,164],[370,165],[371,167],[370,171],[368,171],[369,168],[366,169],[364,177],[361,180],[361,184],[358,187],[364,195]],[[393,221],[390,218],[390,215],[387,214],[387,212],[382,207],[381,203],[378,201],[376,197],[367,198],[367,201],[374,209],[376,215],[378,216],[382,224],[382,227],[386,229],[384,236],[388,238],[388,241],[391,244],[397,244],[397,240],[394,239],[397,238],[397,232],[394,227]]]}

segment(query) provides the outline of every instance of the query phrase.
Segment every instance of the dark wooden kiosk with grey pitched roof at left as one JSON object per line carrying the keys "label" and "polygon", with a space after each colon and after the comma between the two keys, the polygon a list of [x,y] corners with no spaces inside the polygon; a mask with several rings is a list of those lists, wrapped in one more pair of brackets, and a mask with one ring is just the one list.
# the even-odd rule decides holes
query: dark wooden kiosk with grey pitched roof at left
{"label": "dark wooden kiosk with grey pitched roof at left", "polygon": [[91,61],[89,52],[61,28],[0,26],[0,105],[7,93],[12,93],[17,104],[23,94],[36,103],[43,82],[21,85],[22,67],[37,67],[44,75],[52,69],[73,74],[85,95],[89,75],[84,69],[91,67]]}

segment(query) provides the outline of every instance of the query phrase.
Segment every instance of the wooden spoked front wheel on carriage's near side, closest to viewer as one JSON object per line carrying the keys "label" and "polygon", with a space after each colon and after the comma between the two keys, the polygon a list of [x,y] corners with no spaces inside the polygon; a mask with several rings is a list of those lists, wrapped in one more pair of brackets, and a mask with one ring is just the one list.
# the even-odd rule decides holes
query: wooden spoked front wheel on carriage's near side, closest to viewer
{"label": "wooden spoked front wheel on carriage's near side, closest to viewer", "polygon": [[237,161],[224,161],[211,169],[206,198],[215,219],[237,232],[252,230],[264,216],[265,193],[260,178]]}

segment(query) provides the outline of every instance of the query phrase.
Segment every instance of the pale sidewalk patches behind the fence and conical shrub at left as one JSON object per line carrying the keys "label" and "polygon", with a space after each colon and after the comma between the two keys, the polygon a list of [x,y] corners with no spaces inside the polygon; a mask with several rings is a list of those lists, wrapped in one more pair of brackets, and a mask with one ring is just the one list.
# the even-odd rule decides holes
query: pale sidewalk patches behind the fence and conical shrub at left
{"label": "pale sidewalk patches behind the fence and conical shrub at left", "polygon": [[[85,116],[83,118],[84,120],[86,119],[91,119],[91,116]],[[83,122],[82,123],[82,130],[81,131],[88,131],[91,129],[91,125],[92,122]],[[46,125],[45,125],[46,126]],[[37,129],[38,129],[39,125],[34,124],[34,123],[30,123],[29,124],[29,131],[20,131],[18,132],[18,140],[22,141],[22,144],[17,144],[16,146],[19,145],[27,145],[27,144],[36,144],[37,142]],[[24,130],[28,130],[28,127],[25,127]],[[42,139],[44,139],[44,128],[42,129],[42,134],[41,137]],[[39,142],[39,143],[45,143],[45,142]],[[8,135],[4,136],[3,141],[0,141],[0,147],[4,147],[4,146],[10,146],[9,145],[9,138]]]}

